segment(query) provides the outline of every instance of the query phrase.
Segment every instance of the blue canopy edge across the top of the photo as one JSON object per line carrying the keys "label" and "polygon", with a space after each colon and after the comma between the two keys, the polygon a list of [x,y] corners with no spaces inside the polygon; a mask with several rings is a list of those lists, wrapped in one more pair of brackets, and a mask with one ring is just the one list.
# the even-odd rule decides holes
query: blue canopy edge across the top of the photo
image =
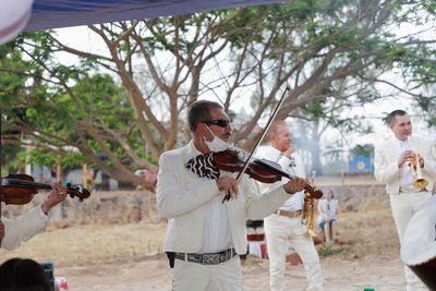
{"label": "blue canopy edge across the top of the photo", "polygon": [[286,0],[35,0],[31,20],[24,31],[153,19],[284,1]]}

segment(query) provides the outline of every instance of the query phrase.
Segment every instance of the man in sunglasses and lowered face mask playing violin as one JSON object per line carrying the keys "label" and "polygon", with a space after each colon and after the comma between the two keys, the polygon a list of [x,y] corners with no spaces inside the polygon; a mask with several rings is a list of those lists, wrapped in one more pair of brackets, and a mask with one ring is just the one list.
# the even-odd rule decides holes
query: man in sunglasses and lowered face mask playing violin
{"label": "man in sunglasses and lowered face mask playing violin", "polygon": [[[165,251],[173,290],[242,290],[241,262],[246,253],[247,219],[270,215],[307,181],[294,178],[261,194],[246,174],[219,170],[211,153],[229,147],[232,128],[223,108],[194,102],[187,112],[193,140],[159,160],[157,209],[168,219]],[[230,194],[233,198],[222,202]]]}

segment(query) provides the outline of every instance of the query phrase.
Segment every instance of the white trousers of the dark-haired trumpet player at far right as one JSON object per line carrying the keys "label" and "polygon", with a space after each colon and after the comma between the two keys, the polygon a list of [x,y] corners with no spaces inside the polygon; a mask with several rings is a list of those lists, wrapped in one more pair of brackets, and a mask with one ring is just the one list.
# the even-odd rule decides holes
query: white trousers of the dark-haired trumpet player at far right
{"label": "white trousers of the dark-haired trumpet player at far right", "polygon": [[[416,211],[420,205],[431,196],[431,192],[401,192],[398,195],[390,195],[390,207],[392,209],[393,221],[397,227],[400,244],[403,241],[405,228],[408,227],[414,211]],[[428,290],[408,266],[404,266],[404,277],[407,291]]]}

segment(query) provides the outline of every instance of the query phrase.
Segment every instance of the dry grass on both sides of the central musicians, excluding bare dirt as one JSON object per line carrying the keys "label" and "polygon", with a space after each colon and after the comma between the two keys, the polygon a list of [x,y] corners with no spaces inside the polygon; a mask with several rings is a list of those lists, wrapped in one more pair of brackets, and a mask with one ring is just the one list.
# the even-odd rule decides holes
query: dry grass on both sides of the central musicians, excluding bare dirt
{"label": "dry grass on both sides of the central musicians, excluding bare dirt", "polygon": [[[398,258],[399,243],[387,195],[352,193],[347,204],[358,205],[339,215],[339,239],[349,251],[334,255],[351,260]],[[1,250],[0,257],[32,257],[58,267],[141,262],[162,252],[165,228],[165,221],[150,218],[124,225],[58,222],[16,251]]]}

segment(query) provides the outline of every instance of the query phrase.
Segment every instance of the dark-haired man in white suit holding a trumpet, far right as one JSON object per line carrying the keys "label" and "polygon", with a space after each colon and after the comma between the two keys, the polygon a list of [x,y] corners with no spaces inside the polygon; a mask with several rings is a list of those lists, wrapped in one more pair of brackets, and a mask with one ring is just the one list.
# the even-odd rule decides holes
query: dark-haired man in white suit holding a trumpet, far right
{"label": "dark-haired man in white suit holding a trumpet, far right", "polygon": [[[413,136],[412,122],[403,110],[395,110],[388,116],[392,138],[375,147],[374,175],[380,183],[386,183],[390,206],[400,243],[413,213],[432,195],[436,181],[436,144],[427,136]],[[428,181],[424,189],[412,185],[413,174],[409,166],[414,153],[419,153],[422,175]],[[427,290],[419,278],[404,266],[408,291]]]}

